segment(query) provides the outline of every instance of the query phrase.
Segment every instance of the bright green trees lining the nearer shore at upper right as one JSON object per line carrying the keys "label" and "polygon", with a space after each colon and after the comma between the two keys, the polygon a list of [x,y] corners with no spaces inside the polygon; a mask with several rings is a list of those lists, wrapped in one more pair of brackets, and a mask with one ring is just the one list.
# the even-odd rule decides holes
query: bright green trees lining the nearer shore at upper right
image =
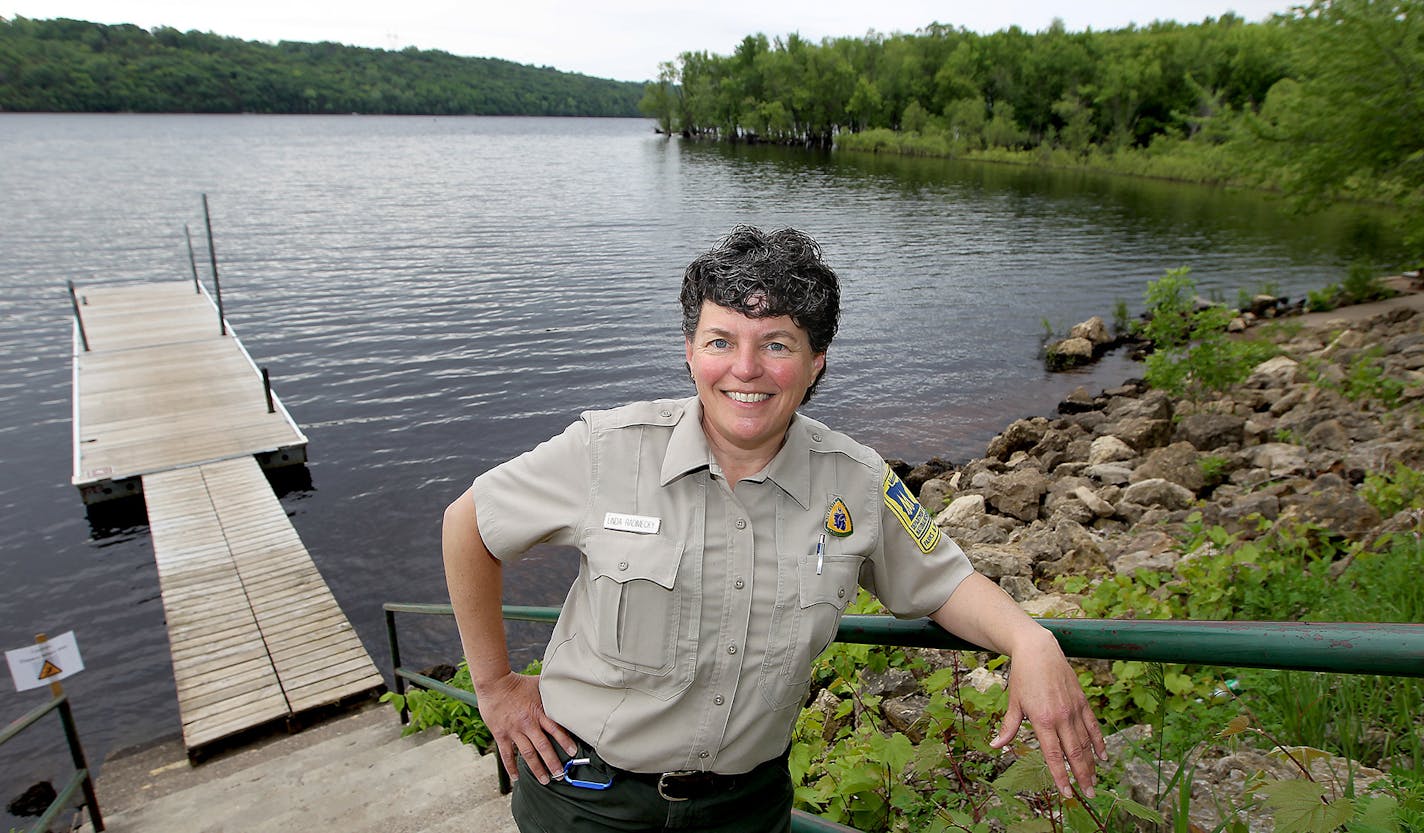
{"label": "bright green trees lining the nearer shore at upper right", "polygon": [[665,61],[668,134],[1041,161],[1405,209],[1424,255],[1424,0],[1111,31],[745,37]]}

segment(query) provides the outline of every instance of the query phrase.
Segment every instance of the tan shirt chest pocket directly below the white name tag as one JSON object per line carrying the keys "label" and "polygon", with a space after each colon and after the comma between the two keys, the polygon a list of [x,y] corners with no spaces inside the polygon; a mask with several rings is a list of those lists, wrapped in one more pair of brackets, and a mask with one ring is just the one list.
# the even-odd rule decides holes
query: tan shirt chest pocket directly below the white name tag
{"label": "tan shirt chest pocket directly below the white name tag", "polygon": [[[608,530],[591,535],[585,550],[594,649],[628,672],[625,685],[658,696],[686,688],[696,662],[696,617],[685,609],[696,594],[678,581],[684,554],[671,535]],[[679,642],[688,642],[682,651]]]}

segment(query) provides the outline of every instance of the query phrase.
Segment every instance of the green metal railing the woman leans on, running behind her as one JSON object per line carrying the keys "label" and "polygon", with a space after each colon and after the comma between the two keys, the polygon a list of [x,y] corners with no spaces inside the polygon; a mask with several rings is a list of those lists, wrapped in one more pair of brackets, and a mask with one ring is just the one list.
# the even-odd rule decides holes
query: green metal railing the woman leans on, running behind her
{"label": "green metal railing the woman leans on, running behind her", "polygon": [[[473,693],[400,665],[396,614],[454,615],[447,604],[386,602],[386,635],[396,693],[406,681],[439,691],[471,706]],[[558,621],[558,608],[504,605],[504,618],[523,622]],[[1058,639],[1068,656],[1084,659],[1138,659],[1183,665],[1276,668],[1329,674],[1424,676],[1424,625],[1376,622],[1206,622],[1175,619],[1037,619]],[[840,619],[837,642],[900,645],[948,651],[983,651],[930,619],[847,615]],[[407,721],[402,711],[400,721]],[[500,792],[510,790],[500,765]],[[792,830],[852,832],[834,822],[795,812]]]}

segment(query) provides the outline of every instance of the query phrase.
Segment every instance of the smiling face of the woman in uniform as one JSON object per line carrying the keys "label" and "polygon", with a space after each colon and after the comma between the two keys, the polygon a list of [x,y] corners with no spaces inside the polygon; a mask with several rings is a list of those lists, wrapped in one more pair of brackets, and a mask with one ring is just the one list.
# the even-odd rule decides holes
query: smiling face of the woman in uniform
{"label": "smiling face of the woman in uniform", "polygon": [[[728,471],[759,463],[745,471],[755,474],[782,447],[826,355],[812,352],[810,337],[790,316],[748,318],[711,300],[702,302],[686,345],[713,456]],[[732,459],[743,464],[729,466]]]}

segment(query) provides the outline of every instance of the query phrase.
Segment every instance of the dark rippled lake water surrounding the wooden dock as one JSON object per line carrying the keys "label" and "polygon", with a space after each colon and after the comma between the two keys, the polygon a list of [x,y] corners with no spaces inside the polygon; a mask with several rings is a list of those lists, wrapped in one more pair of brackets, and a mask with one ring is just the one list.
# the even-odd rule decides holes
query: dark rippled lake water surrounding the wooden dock
{"label": "dark rippled lake water surrounding the wooden dock", "polygon": [[[1058,332],[1190,266],[1203,292],[1302,295],[1396,243],[1363,209],[1293,218],[1262,195],[948,161],[665,141],[638,120],[0,114],[0,648],[74,629],[91,762],[178,730],[142,525],[91,523],[70,477],[64,282],[182,281],[212,205],[229,320],[310,437],[283,497],[377,664],[383,601],[444,601],[443,507],[580,410],[691,393],[681,271],[732,225],[793,225],[842,275],[842,335],[807,413],[920,461],[978,456],[1011,419],[1122,359],[1048,374]],[[141,521],[141,518],[140,518]],[[541,552],[508,601],[555,604]],[[412,662],[457,655],[412,622]],[[404,628],[403,628],[404,632]],[[520,661],[544,631],[514,628]],[[9,722],[41,692],[0,695]],[[0,750],[0,797],[67,777]]]}

